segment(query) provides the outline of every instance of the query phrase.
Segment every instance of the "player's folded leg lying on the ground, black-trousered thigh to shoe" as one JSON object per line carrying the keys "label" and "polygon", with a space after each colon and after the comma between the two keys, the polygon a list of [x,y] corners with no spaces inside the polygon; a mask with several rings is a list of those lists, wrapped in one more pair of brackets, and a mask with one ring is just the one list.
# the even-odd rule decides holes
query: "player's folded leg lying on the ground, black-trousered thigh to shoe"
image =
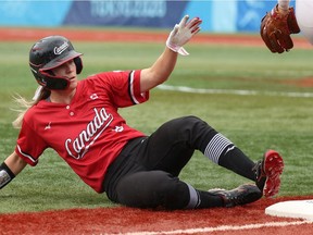
{"label": "player's folded leg lying on the ground, black-trousered thigh to shoe", "polygon": [[163,171],[125,175],[116,186],[116,202],[128,207],[166,210],[235,207],[262,197],[255,185],[241,185],[233,190],[197,190]]}

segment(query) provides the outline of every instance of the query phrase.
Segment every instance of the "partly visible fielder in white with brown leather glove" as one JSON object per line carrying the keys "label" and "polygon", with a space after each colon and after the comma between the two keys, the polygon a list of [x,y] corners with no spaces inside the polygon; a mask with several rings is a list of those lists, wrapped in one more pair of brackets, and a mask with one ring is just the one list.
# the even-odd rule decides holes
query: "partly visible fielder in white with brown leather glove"
{"label": "partly visible fielder in white with brown leather glove", "polygon": [[277,0],[274,9],[261,22],[261,36],[272,52],[283,53],[293,47],[290,34],[300,30],[313,45],[312,0],[296,0],[296,13],[289,0]]}

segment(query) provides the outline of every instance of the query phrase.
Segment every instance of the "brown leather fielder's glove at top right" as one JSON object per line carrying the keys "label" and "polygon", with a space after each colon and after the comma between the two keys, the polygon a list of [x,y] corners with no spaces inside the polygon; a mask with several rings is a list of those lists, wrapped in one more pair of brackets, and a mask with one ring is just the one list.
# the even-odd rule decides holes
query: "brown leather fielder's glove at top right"
{"label": "brown leather fielder's glove at top right", "polygon": [[289,51],[293,47],[290,34],[298,33],[300,33],[300,28],[293,8],[289,8],[288,13],[283,14],[278,11],[278,4],[276,4],[261,21],[261,37],[273,53]]}

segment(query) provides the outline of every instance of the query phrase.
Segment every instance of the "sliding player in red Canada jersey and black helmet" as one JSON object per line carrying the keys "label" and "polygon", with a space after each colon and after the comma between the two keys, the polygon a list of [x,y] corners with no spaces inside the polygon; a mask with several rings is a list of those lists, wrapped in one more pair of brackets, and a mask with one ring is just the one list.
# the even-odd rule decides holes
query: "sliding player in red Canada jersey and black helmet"
{"label": "sliding player in red Canada jersey and black helmet", "polygon": [[[70,40],[50,36],[35,44],[29,65],[40,88],[34,103],[14,122],[21,131],[15,150],[0,166],[0,187],[26,164],[36,165],[45,149],[52,148],[97,193],[105,191],[112,201],[129,207],[235,207],[277,194],[284,162],[276,151],[267,151],[254,163],[196,116],[168,121],[147,136],[128,126],[117,112],[147,101],[149,90],[167,79],[177,53],[188,54],[183,46],[200,30],[200,24],[198,17],[183,17],[150,67],[104,72],[79,82],[82,53]],[[196,189],[178,178],[195,150],[256,184],[233,190]]]}

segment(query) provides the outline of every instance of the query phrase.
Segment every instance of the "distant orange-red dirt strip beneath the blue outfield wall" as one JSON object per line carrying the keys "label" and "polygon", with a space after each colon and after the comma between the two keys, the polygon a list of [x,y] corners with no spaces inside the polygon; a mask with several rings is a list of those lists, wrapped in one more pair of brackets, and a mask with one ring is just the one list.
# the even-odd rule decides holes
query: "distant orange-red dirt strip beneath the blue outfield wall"
{"label": "distant orange-red dirt strip beneath the blue outfield wall", "polygon": [[[63,35],[71,40],[77,41],[165,41],[168,33],[66,28],[0,28],[0,41],[32,40],[35,42],[49,35]],[[197,37],[192,38],[190,44],[224,44],[264,47],[259,35],[217,35],[200,33]],[[297,48],[312,48],[312,46],[302,37],[293,37],[293,44]]]}

